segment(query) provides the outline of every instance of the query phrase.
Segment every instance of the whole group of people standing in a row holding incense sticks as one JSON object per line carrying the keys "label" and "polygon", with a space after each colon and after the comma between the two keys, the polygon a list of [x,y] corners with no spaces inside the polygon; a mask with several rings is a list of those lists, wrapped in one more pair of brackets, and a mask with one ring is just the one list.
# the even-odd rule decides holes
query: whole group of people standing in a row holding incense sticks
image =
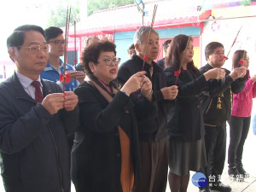
{"label": "whole group of people standing in a row holding incense sticks", "polygon": [[77,192],[166,192],[168,180],[185,192],[193,171],[207,177],[201,192],[230,192],[220,180],[226,121],[229,175],[249,177],[242,151],[256,75],[247,51],[235,52],[229,71],[223,44],[211,42],[198,69],[193,38],[168,39],[156,62],[159,41],[140,27],[119,65],[115,44],[92,36],[73,67],[60,59],[61,28],[17,27],[7,39],[15,73],[0,84],[4,189],[70,192],[73,182]]}

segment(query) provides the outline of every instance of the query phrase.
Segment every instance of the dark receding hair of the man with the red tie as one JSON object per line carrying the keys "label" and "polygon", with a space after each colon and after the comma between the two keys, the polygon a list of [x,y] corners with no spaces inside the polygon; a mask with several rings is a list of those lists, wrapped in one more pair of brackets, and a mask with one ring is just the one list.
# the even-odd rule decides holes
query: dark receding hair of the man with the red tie
{"label": "dark receding hair of the man with the red tie", "polygon": [[40,32],[44,36],[44,29],[41,26],[24,25],[15,28],[15,31],[7,38],[7,49],[10,47],[19,47],[24,44],[25,32],[36,31]]}

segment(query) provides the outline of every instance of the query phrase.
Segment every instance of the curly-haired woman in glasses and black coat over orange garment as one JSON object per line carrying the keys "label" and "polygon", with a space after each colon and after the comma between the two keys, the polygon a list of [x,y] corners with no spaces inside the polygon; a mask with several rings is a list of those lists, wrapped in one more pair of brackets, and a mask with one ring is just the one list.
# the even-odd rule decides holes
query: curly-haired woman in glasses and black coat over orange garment
{"label": "curly-haired woman in glasses and black coat over orange garment", "polygon": [[[83,52],[87,79],[79,96],[80,128],[72,150],[72,180],[77,192],[130,192],[140,174],[137,120],[154,118],[152,84],[139,72],[119,90],[114,81],[119,58],[108,41],[90,44]],[[132,92],[147,99],[138,102]]]}

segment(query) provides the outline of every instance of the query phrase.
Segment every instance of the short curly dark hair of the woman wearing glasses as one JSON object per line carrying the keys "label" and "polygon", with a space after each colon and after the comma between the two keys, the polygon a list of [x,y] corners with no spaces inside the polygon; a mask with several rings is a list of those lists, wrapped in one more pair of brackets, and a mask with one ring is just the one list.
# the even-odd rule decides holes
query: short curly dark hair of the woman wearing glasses
{"label": "short curly dark hair of the woman wearing glasses", "polygon": [[82,53],[82,62],[85,67],[85,73],[92,75],[93,73],[90,71],[89,62],[92,61],[95,64],[98,63],[99,56],[102,52],[113,52],[116,55],[116,46],[110,41],[101,40],[96,42],[95,44],[90,44],[84,48]]}

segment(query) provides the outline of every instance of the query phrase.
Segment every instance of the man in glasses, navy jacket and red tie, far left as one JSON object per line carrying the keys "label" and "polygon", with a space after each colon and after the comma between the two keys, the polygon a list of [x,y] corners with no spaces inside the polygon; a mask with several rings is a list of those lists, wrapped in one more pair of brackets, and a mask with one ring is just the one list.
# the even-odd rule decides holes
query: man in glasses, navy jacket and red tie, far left
{"label": "man in glasses, navy jacket and red tie, far left", "polygon": [[13,76],[0,84],[0,166],[9,192],[70,192],[67,136],[79,125],[78,96],[40,78],[49,46],[40,26],[7,39]]}

